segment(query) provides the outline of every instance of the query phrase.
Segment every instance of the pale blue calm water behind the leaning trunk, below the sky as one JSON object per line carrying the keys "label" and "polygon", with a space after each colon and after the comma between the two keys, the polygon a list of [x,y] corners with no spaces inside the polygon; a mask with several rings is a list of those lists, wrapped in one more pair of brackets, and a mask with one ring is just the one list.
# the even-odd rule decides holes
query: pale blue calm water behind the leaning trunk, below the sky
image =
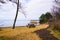
{"label": "pale blue calm water behind the leaning trunk, below the sky", "polygon": [[[8,27],[8,26],[13,26],[13,20],[2,20],[0,21],[0,27]],[[29,20],[17,20],[16,21],[16,26],[25,26],[29,23]]]}

